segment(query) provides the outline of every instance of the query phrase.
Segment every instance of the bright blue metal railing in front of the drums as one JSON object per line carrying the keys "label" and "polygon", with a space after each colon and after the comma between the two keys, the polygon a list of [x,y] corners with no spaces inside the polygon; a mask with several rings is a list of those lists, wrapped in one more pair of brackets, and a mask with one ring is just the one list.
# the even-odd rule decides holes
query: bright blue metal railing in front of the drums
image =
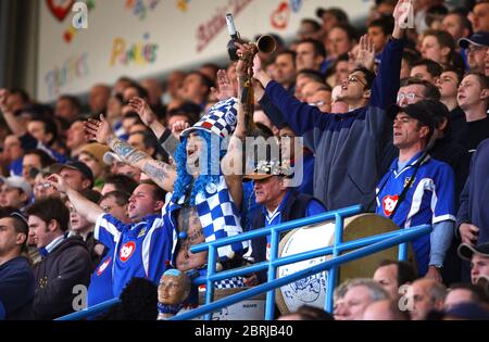
{"label": "bright blue metal railing in front of the drums", "polygon": [[[318,214],[311,217],[305,217],[297,219],[293,221],[288,221],[266,228],[261,228],[248,232],[243,232],[230,238],[220,239],[216,241],[202,243],[195,245],[190,249],[192,253],[200,253],[208,251],[208,273],[205,277],[200,277],[193,280],[195,286],[205,284],[205,304],[195,308],[190,312],[177,315],[172,320],[184,320],[192,319],[200,316],[204,316],[204,319],[212,319],[212,313],[227,307],[231,304],[239,303],[243,300],[251,299],[255,295],[266,292],[265,302],[265,319],[271,320],[274,318],[275,309],[275,290],[288,284],[290,282],[297,281],[299,279],[328,270],[327,287],[326,287],[326,300],[325,309],[333,312],[333,293],[338,280],[339,266],[344,263],[365,257],[371,254],[375,254],[379,251],[399,245],[399,259],[405,261],[408,257],[408,244],[406,242],[416,239],[423,235],[429,233],[431,231],[430,226],[419,226],[410,229],[400,229],[397,231],[391,231],[387,233],[380,233],[377,236],[372,236],[355,241],[342,242],[342,232],[344,217],[359,214],[361,212],[361,206],[355,205],[338,211],[333,211],[328,213]],[[279,236],[284,231],[296,229],[303,226],[316,225],[324,223],[326,220],[335,219],[335,242],[334,245],[316,249],[313,251],[308,251],[294,255],[278,257],[278,243]],[[269,258],[266,262],[256,263],[247,267],[229,269],[225,271],[216,273],[216,252],[218,248],[228,245],[236,242],[241,242],[246,240],[252,240],[259,237],[271,236],[271,252]],[[342,254],[343,252],[354,250],[352,252]],[[333,258],[323,262],[318,265],[314,265],[310,268],[302,269],[292,275],[284,278],[276,278],[277,267],[293,264],[302,261],[306,261],[314,257],[325,256],[331,254]],[[341,255],[342,254],[342,255]],[[234,295],[224,297],[220,301],[213,301],[214,299],[214,282],[221,281],[227,278],[249,275],[255,271],[267,269],[267,282],[260,284],[258,287],[250,288],[246,291],[236,293]],[[118,299],[113,299],[111,301],[101,303],[93,307],[89,307],[78,313],[66,315],[58,318],[58,320],[75,320],[83,319],[85,317],[95,315],[97,313],[103,312],[110,308],[112,305],[117,303]]]}

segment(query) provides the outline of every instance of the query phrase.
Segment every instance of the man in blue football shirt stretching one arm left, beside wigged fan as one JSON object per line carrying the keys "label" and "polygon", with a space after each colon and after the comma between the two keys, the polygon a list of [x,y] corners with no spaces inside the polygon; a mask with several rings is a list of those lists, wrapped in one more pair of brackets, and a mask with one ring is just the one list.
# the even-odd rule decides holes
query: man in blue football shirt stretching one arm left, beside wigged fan
{"label": "man in blue football shirt stretching one arm left, beside wigged fan", "polygon": [[[162,218],[166,194],[164,190],[152,181],[142,181],[129,199],[130,223],[124,224],[70,188],[61,176],[51,175],[48,181],[67,195],[79,215],[96,224],[95,238],[113,251],[96,269],[97,277],[101,277],[103,273],[112,273],[113,296],[118,296],[134,277],[159,283],[176,242],[174,231],[164,225]],[[112,267],[106,267],[108,265]],[[97,295],[100,291],[105,292],[104,289],[96,288],[98,283],[100,282],[90,283],[89,296]]]}

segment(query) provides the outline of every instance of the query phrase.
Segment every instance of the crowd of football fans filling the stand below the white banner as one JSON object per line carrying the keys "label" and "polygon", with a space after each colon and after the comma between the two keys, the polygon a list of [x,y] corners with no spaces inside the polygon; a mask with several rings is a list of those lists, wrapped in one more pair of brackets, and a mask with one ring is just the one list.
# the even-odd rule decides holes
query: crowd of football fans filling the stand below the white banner
{"label": "crowd of football fans filling the stand below the white banner", "polygon": [[[338,284],[334,313],[280,319],[489,319],[489,1],[414,1],[414,27],[402,25],[406,3],[375,1],[363,36],[342,10],[318,9],[296,40],[274,35],[276,51],[254,59],[253,122],[289,152],[297,187],[286,161],[274,172],[265,157],[244,177],[180,165],[205,152],[192,139],[231,138],[220,162],[243,139],[250,43],[228,65],[93,85],[88,103],[0,89],[0,319],[116,296],[129,304],[91,318],[156,319],[167,269],[205,276],[206,255],[189,246],[359,203],[432,231],[411,242],[413,263],[386,259]],[[218,253],[220,267],[268,252],[269,237],[254,239]]]}

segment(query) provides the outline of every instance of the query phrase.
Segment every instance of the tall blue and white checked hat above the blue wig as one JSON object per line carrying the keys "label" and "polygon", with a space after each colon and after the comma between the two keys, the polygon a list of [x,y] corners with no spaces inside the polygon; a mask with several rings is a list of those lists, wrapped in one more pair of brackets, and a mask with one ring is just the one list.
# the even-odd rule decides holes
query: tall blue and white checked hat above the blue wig
{"label": "tall blue and white checked hat above the blue wig", "polygon": [[196,125],[185,129],[180,138],[186,137],[197,129],[211,131],[221,138],[233,135],[238,123],[238,107],[239,101],[236,98],[217,102]]}

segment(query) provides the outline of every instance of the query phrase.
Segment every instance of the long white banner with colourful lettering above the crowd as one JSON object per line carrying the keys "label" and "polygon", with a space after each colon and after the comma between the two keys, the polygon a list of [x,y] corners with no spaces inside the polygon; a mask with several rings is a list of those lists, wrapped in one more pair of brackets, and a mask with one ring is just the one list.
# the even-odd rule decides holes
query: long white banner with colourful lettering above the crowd
{"label": "long white banner with colourful lettering above the crowd", "polygon": [[140,79],[226,55],[230,12],[244,38],[292,38],[317,8],[342,8],[355,20],[373,0],[43,0],[37,98],[87,92],[120,76]]}

